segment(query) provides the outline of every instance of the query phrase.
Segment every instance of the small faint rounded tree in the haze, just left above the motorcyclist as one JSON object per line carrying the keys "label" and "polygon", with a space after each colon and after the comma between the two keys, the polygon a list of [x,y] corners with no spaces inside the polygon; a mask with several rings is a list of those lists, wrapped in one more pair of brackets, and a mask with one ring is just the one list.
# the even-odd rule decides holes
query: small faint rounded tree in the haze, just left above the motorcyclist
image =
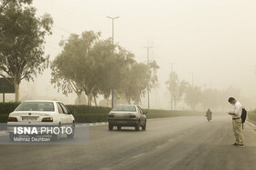
{"label": "small faint rounded tree in the haze, just left above the motorcyclist", "polygon": [[201,89],[198,86],[188,85],[186,90],[185,102],[189,105],[193,110],[195,110],[196,106],[201,101]]}

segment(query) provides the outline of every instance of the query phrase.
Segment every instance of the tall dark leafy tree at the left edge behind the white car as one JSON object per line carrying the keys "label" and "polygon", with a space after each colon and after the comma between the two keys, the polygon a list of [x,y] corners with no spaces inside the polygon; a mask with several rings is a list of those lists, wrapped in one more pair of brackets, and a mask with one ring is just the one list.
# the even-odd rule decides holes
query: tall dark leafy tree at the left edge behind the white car
{"label": "tall dark leafy tree at the left edge behind the white car", "polygon": [[[28,5],[23,5],[25,2]],[[11,83],[15,85],[16,102],[21,80],[33,81],[49,62],[49,56],[44,56],[44,38],[51,35],[53,20],[48,14],[37,17],[29,3],[8,3],[0,14],[0,75],[14,78]]]}

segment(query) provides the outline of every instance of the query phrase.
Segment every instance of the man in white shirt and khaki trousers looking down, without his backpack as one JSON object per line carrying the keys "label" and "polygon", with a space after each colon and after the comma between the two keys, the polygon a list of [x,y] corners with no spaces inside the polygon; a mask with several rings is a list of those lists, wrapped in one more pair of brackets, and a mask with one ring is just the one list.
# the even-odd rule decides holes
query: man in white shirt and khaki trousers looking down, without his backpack
{"label": "man in white shirt and khaki trousers looking down, without his backpack", "polygon": [[237,101],[233,97],[229,97],[229,103],[234,105],[234,110],[229,112],[229,115],[232,115],[232,124],[233,124],[233,131],[235,135],[235,144],[234,146],[243,146],[242,134],[241,134],[241,112],[242,108],[240,102]]}

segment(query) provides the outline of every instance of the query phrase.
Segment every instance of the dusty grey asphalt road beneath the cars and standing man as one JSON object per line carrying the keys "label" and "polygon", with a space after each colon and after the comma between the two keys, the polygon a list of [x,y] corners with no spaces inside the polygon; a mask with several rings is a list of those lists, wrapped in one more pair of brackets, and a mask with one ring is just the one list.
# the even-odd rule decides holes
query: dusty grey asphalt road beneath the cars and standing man
{"label": "dusty grey asphalt road beneath the cars and standing man", "polygon": [[0,169],[256,169],[255,127],[234,143],[229,115],[147,121],[147,130],[90,129],[88,145],[0,145]]}

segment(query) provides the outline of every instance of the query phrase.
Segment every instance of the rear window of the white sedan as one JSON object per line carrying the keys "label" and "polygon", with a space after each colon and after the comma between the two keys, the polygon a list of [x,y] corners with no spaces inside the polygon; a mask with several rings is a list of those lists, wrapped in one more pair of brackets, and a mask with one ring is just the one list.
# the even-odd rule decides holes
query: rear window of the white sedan
{"label": "rear window of the white sedan", "polygon": [[23,102],[18,105],[16,111],[43,111],[53,112],[53,102]]}

